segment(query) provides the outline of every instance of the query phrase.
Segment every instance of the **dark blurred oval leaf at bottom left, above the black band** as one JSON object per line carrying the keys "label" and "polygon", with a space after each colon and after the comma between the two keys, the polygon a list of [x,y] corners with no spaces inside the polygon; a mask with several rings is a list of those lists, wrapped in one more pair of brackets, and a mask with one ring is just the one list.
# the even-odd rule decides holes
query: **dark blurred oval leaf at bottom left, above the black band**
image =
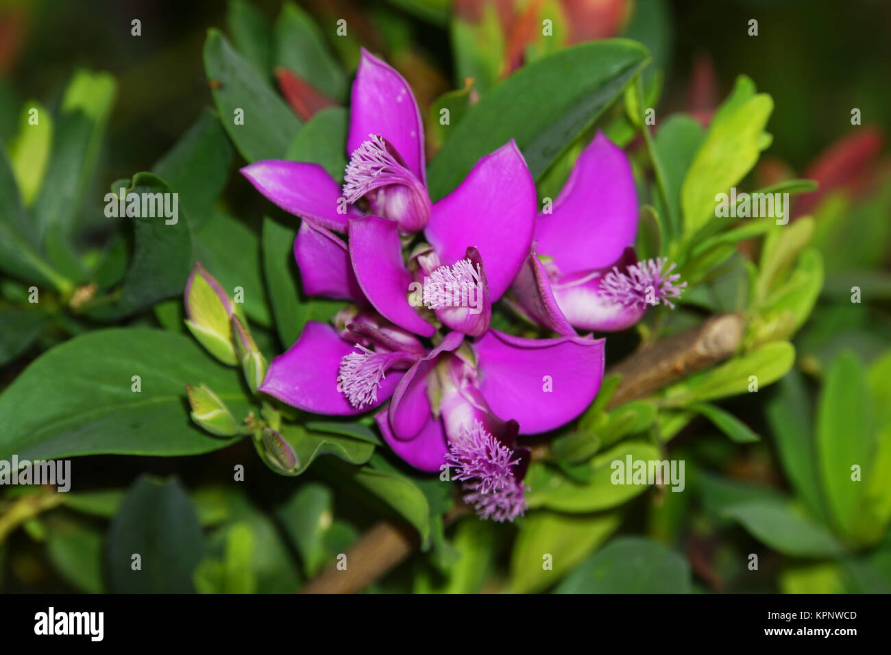
{"label": "dark blurred oval leaf at bottom left, above the black band", "polygon": [[[176,479],[137,479],[108,535],[109,589],[115,594],[189,594],[204,536],[192,501]],[[134,570],[134,555],[141,569]]]}

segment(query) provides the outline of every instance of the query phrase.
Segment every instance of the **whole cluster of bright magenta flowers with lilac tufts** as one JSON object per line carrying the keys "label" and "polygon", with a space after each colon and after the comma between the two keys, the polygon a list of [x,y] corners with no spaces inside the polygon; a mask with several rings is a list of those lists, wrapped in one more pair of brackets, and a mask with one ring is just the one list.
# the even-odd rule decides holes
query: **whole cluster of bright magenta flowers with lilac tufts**
{"label": "whole cluster of bright magenta flowers with lilac tufts", "polygon": [[[307,323],[259,390],[307,412],[377,410],[383,438],[405,462],[454,467],[480,516],[513,520],[525,508],[528,461],[517,436],[571,421],[600,388],[604,340],[575,328],[639,320],[646,305],[629,298],[643,275],[652,277],[650,304],[683,286],[661,263],[626,263],[634,180],[605,136],[581,155],[553,214],[536,217],[535,184],[513,141],[432,202],[423,135],[405,79],[363,52],[342,186],[312,163],[242,169],[301,217],[294,254],[307,295],[351,302],[330,324]],[[421,281],[432,286],[412,299]],[[470,294],[472,303],[454,301]],[[560,336],[494,330],[492,305],[503,298]]]}

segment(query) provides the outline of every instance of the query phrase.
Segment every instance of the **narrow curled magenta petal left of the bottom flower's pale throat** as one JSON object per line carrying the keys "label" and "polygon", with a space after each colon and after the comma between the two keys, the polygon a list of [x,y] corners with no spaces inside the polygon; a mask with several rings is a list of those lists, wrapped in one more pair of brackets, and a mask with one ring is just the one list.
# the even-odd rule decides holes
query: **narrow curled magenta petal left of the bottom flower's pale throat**
{"label": "narrow curled magenta petal left of the bottom flower's pale throat", "polygon": [[458,348],[463,339],[464,335],[460,332],[449,332],[428,356],[418,360],[405,373],[389,405],[389,423],[395,438],[413,439],[423,430],[431,413],[427,376],[436,366],[440,353]]}

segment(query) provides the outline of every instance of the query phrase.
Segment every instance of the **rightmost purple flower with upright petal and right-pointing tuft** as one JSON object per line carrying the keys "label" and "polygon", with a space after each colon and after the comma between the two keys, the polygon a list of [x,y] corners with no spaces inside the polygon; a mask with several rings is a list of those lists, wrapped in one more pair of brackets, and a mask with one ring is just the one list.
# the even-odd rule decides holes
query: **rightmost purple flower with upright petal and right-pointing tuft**
{"label": "rightmost purple flower with upright petal and right-pointing tuft", "polygon": [[637,218],[631,165],[598,132],[552,213],[538,216],[533,250],[511,286],[513,306],[565,335],[625,330],[647,307],[674,307],[686,282],[666,259],[637,261]]}

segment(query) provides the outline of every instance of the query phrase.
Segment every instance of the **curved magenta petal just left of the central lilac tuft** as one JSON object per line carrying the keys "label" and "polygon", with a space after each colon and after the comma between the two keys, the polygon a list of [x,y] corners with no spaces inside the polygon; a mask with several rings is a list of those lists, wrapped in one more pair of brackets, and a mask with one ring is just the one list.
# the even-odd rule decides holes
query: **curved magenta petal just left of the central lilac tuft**
{"label": "curved magenta petal just left of the central lilac tuft", "polygon": [[391,323],[432,337],[435,328],[408,302],[412,275],[402,261],[396,222],[376,216],[349,220],[349,256],[365,298]]}

